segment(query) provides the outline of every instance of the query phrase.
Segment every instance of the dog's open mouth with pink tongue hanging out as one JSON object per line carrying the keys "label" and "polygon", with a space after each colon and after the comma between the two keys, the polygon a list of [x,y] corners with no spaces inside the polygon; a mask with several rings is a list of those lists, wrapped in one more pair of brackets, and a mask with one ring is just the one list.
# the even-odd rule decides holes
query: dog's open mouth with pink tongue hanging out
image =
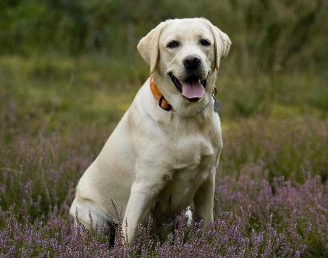
{"label": "dog's open mouth with pink tongue hanging out", "polygon": [[197,75],[191,75],[185,81],[178,80],[172,73],[170,77],[176,89],[188,100],[198,101],[204,95],[207,80],[200,80]]}

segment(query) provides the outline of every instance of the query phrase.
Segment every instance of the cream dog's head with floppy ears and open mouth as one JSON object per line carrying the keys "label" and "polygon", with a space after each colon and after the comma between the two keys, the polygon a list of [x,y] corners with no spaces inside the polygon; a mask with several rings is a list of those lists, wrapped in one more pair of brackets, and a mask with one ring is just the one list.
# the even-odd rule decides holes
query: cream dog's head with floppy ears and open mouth
{"label": "cream dog's head with floppy ears and open mouth", "polygon": [[230,45],[228,35],[209,20],[187,18],[160,23],[137,48],[149,63],[159,90],[174,108],[197,110],[209,102],[214,70],[219,69]]}

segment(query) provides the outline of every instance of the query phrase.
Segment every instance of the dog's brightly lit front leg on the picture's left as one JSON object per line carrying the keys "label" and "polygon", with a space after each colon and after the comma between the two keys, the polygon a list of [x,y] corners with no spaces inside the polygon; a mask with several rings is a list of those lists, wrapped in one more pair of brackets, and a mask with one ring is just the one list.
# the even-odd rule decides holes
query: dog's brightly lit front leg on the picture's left
{"label": "dog's brightly lit front leg on the picture's left", "polygon": [[132,244],[135,240],[138,223],[144,222],[148,217],[155,197],[166,182],[165,177],[158,173],[158,170],[157,173],[153,173],[152,168],[143,171],[145,174],[137,173],[137,178],[131,186],[130,198],[122,224],[128,244]]}

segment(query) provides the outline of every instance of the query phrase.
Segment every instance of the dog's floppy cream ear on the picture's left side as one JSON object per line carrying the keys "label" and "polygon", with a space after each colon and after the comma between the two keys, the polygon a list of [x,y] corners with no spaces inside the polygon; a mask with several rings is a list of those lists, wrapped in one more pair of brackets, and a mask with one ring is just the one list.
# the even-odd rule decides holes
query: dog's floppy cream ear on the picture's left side
{"label": "dog's floppy cream ear on the picture's left side", "polygon": [[137,46],[141,57],[150,66],[150,74],[154,72],[156,67],[159,52],[158,41],[164,24],[164,22],[161,22],[152,29],[145,37],[141,38]]}

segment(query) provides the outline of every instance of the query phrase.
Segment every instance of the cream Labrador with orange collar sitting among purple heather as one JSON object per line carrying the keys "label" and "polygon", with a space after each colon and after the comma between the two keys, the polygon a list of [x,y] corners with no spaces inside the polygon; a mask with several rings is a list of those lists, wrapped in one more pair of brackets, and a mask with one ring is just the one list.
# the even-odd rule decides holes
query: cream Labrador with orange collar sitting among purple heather
{"label": "cream Labrador with orange collar sitting among purple heather", "polygon": [[139,41],[151,76],[80,178],[75,219],[88,228],[117,222],[113,201],[129,244],[151,212],[165,221],[193,205],[203,228],[213,221],[223,143],[212,94],[230,45],[205,18],[166,20]]}

